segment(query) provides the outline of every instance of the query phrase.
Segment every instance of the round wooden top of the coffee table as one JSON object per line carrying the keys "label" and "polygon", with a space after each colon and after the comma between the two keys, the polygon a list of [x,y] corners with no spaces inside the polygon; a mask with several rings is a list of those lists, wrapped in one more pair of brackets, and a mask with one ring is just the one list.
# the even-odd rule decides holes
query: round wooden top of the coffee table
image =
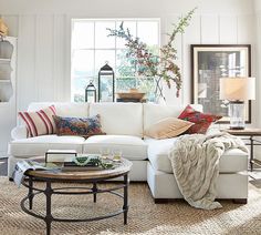
{"label": "round wooden top of the coffee table", "polygon": [[38,178],[50,178],[50,180],[98,180],[106,177],[116,177],[123,175],[130,171],[133,163],[128,160],[122,159],[118,166],[112,170],[101,170],[101,171],[62,171],[62,170],[51,170],[51,171],[29,171],[27,175],[35,176]]}

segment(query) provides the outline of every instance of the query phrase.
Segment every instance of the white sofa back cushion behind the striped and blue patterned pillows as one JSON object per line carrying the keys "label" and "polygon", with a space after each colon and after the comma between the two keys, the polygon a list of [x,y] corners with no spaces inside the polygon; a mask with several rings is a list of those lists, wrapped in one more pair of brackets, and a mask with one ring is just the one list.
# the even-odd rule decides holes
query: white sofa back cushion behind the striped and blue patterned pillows
{"label": "white sofa back cushion behind the striped and blue patterned pillows", "polygon": [[88,103],[55,103],[55,102],[41,102],[31,103],[28,108],[29,112],[34,112],[50,105],[54,105],[56,115],[59,116],[73,116],[73,117],[87,117]]}

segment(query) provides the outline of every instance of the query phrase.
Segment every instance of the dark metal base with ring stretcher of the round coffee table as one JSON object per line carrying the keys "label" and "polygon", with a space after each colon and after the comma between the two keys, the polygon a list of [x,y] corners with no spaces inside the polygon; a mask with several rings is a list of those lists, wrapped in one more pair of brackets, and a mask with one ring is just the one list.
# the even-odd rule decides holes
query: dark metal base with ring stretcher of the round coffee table
{"label": "dark metal base with ring stretcher of the round coffee table", "polygon": [[[118,175],[117,175],[118,176]],[[51,224],[52,222],[92,222],[92,221],[100,221],[100,219],[104,219],[104,218],[109,218],[113,216],[117,216],[119,214],[124,214],[124,224],[127,224],[127,213],[128,213],[128,184],[129,184],[129,180],[128,180],[128,173],[123,174],[124,176],[124,183],[121,185],[116,185],[114,187],[111,188],[105,188],[105,190],[100,190],[97,187],[97,183],[102,183],[105,182],[106,180],[108,180],[108,177],[106,178],[98,178],[98,180],[51,180],[51,178],[38,178],[35,176],[28,176],[29,181],[28,184],[25,182],[23,182],[23,185],[25,187],[29,188],[28,195],[21,201],[21,207],[22,210],[29,214],[32,215],[36,218],[43,219],[46,224],[46,235],[51,234]],[[113,178],[113,177],[109,177]],[[41,190],[41,188],[36,188],[33,186],[33,182],[34,181],[44,181],[46,183],[46,187],[45,190]],[[59,187],[59,188],[52,188],[52,183],[58,183],[58,182],[66,182],[66,183],[92,183],[93,187]],[[82,192],[72,192],[69,190],[85,190]],[[117,190],[124,188],[124,193],[123,195],[115,192]],[[39,215],[34,212],[32,212],[32,206],[33,206],[33,197],[38,194],[43,193],[46,197],[46,215],[42,216]],[[98,216],[98,217],[92,217],[92,218],[81,218],[81,219],[73,219],[73,218],[56,218],[52,216],[52,195],[53,194],[64,194],[64,195],[82,195],[82,194],[93,194],[93,202],[96,203],[96,196],[100,193],[111,193],[113,195],[116,195],[118,197],[122,197],[124,200],[124,204],[123,204],[123,208],[118,210],[114,213],[107,214],[107,215],[103,215],[103,216]],[[25,206],[25,202],[29,201],[29,208]]]}

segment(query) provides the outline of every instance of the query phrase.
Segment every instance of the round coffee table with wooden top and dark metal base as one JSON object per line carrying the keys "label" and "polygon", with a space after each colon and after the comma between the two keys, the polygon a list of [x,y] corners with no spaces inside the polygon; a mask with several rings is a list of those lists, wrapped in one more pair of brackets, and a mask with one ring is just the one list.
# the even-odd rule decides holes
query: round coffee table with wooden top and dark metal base
{"label": "round coffee table with wooden top and dark metal base", "polygon": [[[101,170],[101,171],[73,171],[73,172],[63,172],[61,170],[52,170],[52,171],[28,171],[25,173],[28,181],[23,181],[22,184],[29,188],[28,195],[21,201],[22,210],[32,215],[36,218],[43,219],[46,224],[46,234],[51,234],[51,223],[52,222],[91,222],[91,221],[98,221],[103,218],[113,217],[119,214],[124,214],[124,224],[127,224],[127,212],[128,212],[128,173],[132,167],[132,163],[125,159],[122,159],[122,162],[113,170]],[[111,188],[98,188],[97,184],[102,182],[106,182],[111,178],[116,178],[123,176],[123,184],[117,184]],[[45,190],[36,188],[33,186],[35,181],[42,181],[46,183]],[[92,187],[77,187],[71,186],[70,187],[60,187],[53,188],[52,183],[58,182],[66,182],[66,183],[91,183]],[[75,188],[81,188],[84,191],[75,191]],[[117,190],[124,188],[123,195],[115,192]],[[70,191],[71,190],[71,191]],[[74,190],[74,191],[72,191]],[[92,218],[82,218],[82,219],[74,219],[74,218],[55,218],[52,216],[52,195],[60,194],[60,195],[80,195],[80,194],[93,194],[93,201],[96,203],[96,195],[98,193],[111,193],[115,196],[123,198],[123,208],[117,212],[98,216]],[[38,194],[44,194],[46,197],[46,214],[42,216],[32,212],[33,205],[33,197]],[[29,201],[29,208],[25,206],[25,202]]]}

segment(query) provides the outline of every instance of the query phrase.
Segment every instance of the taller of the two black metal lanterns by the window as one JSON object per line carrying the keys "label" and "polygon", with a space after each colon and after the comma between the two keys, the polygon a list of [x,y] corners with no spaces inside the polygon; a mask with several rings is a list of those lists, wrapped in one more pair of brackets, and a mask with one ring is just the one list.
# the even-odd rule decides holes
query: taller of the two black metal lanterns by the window
{"label": "taller of the two black metal lanterns by the window", "polygon": [[98,101],[114,102],[114,71],[106,62],[98,72]]}

